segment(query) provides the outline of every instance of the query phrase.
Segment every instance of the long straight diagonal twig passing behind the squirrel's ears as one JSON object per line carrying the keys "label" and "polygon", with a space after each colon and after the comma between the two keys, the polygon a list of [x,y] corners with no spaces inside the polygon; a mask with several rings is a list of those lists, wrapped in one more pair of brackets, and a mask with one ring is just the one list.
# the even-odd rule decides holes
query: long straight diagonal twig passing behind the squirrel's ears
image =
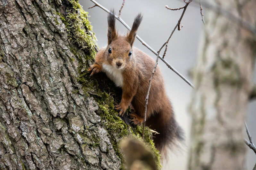
{"label": "long straight diagonal twig passing behind the squirrel's ears", "polygon": [[[103,9],[104,11],[106,11],[107,13],[109,13],[110,11],[107,10],[107,8],[103,7],[102,5],[100,5],[98,2],[96,2],[95,0],[90,0],[91,2],[93,2],[94,4],[96,4],[96,6],[100,7],[101,9]],[[115,18],[120,21],[124,27],[126,27],[128,30],[131,30],[131,28],[124,22],[124,20],[121,17],[118,17],[115,15]],[[157,55],[157,52],[152,49],[147,43],[145,43],[141,37],[139,37],[139,35],[136,35],[136,38],[142,43],[142,45],[144,45],[145,47],[147,47],[151,52],[153,52],[155,55]],[[180,76],[186,83],[188,83],[193,89],[195,88],[194,85],[189,82],[181,73],[179,73],[173,66],[171,66],[164,58],[162,58],[159,55],[159,58],[166,64],[166,66],[168,68],[170,68],[174,73],[176,73],[178,76]]]}

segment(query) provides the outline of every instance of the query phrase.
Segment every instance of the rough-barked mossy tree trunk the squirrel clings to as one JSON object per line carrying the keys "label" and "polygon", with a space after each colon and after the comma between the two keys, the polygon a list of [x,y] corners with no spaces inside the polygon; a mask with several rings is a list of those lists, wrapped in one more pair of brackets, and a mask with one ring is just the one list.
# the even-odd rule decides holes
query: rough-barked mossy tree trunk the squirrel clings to
{"label": "rough-barked mossy tree trunk the squirrel clings to", "polygon": [[95,50],[77,1],[0,1],[1,169],[124,168],[118,141],[141,128],[116,116],[120,89],[89,77]]}

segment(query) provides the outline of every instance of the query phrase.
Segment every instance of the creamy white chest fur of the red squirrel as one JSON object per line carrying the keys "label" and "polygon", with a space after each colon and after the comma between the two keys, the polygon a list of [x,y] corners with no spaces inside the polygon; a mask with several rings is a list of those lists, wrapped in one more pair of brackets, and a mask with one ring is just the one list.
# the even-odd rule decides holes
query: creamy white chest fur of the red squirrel
{"label": "creamy white chest fur of the red squirrel", "polygon": [[113,66],[103,64],[102,65],[103,69],[102,71],[107,74],[107,77],[114,81],[115,85],[118,87],[123,86],[123,75],[122,75],[122,70],[117,69]]}

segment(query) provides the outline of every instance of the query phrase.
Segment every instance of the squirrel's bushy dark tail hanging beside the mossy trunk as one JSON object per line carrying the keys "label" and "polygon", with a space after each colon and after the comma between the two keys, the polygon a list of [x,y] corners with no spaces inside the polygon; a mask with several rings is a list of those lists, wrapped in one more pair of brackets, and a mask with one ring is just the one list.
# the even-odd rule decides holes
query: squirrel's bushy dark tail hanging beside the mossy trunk
{"label": "squirrel's bushy dark tail hanging beside the mossy trunk", "polygon": [[[169,116],[166,116],[166,114],[169,114]],[[153,140],[161,154],[165,154],[167,147],[177,145],[178,141],[184,140],[183,130],[176,122],[174,113],[163,111],[156,113],[146,121],[146,124],[159,133],[153,135]]]}

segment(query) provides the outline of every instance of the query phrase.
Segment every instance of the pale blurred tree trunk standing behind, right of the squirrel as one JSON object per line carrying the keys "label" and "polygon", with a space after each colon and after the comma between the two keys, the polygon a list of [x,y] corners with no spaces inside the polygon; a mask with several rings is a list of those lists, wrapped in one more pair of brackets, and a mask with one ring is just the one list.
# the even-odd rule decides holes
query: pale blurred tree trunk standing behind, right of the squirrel
{"label": "pale blurred tree trunk standing behind, right of the squirrel", "polygon": [[[215,1],[256,24],[255,1]],[[221,14],[207,11],[193,70],[189,169],[245,169],[244,117],[252,89],[256,38]]]}

